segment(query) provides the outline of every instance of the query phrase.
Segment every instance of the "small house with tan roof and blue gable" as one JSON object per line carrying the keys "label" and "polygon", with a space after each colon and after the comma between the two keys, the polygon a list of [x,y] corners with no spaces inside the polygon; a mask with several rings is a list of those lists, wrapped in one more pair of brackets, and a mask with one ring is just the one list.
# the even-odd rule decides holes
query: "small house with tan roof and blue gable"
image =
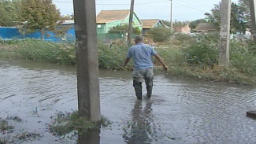
{"label": "small house with tan roof and blue gable", "polygon": [[147,33],[151,28],[164,27],[165,24],[159,19],[141,20],[143,22],[143,34]]}

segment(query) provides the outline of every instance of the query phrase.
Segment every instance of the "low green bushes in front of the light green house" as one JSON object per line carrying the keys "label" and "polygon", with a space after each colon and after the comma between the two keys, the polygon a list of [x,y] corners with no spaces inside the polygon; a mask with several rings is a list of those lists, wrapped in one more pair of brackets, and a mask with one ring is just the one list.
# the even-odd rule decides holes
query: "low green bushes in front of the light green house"
{"label": "low green bushes in front of the light green house", "polygon": [[[113,27],[112,29],[110,29],[109,33],[112,33],[112,34],[126,33],[128,32],[128,28],[129,28],[128,25],[117,25],[116,27]],[[132,28],[132,34],[140,35],[139,28]]]}

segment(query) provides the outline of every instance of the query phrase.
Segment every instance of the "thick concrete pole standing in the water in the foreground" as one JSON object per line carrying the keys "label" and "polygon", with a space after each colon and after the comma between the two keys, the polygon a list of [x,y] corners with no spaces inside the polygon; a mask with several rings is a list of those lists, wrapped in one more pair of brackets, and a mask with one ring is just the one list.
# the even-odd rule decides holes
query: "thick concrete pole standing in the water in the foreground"
{"label": "thick concrete pole standing in the water in the foreground", "polygon": [[95,0],[73,0],[76,28],[78,110],[91,121],[101,120]]}

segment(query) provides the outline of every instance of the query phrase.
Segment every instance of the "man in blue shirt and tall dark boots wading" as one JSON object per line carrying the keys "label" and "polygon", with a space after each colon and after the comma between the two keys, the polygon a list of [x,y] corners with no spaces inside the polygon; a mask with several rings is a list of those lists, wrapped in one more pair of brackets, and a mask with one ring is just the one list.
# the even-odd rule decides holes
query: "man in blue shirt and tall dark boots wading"
{"label": "man in blue shirt and tall dark boots wading", "polygon": [[157,60],[161,63],[165,71],[168,70],[165,62],[158,56],[157,52],[153,47],[145,45],[143,43],[143,36],[135,37],[135,46],[132,46],[126,55],[126,59],[124,61],[124,66],[128,64],[131,57],[134,61],[134,69],[132,72],[133,77],[133,87],[135,89],[136,97],[141,100],[142,99],[142,83],[143,79],[145,79],[145,83],[147,85],[147,98],[151,98],[152,88],[153,88],[153,62],[152,56],[156,57]]}

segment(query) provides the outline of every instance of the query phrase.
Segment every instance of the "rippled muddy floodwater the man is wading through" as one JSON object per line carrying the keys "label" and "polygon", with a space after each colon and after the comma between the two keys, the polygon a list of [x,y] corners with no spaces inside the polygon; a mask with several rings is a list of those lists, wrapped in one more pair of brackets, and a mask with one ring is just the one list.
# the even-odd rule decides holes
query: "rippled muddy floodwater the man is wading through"
{"label": "rippled muddy floodwater the man is wading through", "polygon": [[[113,124],[81,137],[80,143],[256,143],[256,120],[246,117],[256,109],[256,87],[155,75],[153,98],[139,102],[131,72],[101,70],[99,80],[101,113]],[[76,94],[75,67],[0,61],[0,117],[18,116],[22,122],[13,123],[17,131],[42,135],[23,143],[76,143],[46,129],[54,113],[77,109]]]}

